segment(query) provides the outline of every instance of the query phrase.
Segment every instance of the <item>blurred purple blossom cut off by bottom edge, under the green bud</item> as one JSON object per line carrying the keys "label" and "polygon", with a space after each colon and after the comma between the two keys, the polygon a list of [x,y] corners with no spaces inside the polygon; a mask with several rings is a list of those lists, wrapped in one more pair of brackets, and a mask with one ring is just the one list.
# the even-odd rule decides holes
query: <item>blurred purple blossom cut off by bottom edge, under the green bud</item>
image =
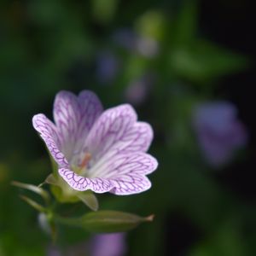
{"label": "blurred purple blossom cut off by bottom edge, under the green bud", "polygon": [[90,256],[123,256],[126,249],[125,233],[96,235],[90,241]]}

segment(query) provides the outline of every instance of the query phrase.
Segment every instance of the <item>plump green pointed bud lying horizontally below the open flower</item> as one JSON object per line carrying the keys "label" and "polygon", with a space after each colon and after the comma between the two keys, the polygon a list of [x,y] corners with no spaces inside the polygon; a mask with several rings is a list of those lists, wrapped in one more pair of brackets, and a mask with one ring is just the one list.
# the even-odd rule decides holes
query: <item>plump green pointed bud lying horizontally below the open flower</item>
{"label": "plump green pointed bud lying horizontally below the open flower", "polygon": [[80,219],[80,224],[90,232],[124,232],[143,222],[152,221],[153,218],[153,215],[143,218],[127,212],[98,211],[85,214]]}

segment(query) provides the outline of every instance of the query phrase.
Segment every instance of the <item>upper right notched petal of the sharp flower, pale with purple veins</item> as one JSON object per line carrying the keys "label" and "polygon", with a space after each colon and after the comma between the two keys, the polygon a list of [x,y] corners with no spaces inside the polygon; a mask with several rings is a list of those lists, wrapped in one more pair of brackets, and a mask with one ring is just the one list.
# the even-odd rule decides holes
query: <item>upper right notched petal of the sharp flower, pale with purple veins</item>
{"label": "upper right notched petal of the sharp flower, pale with purple veins", "polygon": [[103,113],[92,128],[86,145],[94,160],[99,160],[109,151],[120,154],[148,150],[153,139],[152,127],[148,123],[135,122],[137,117],[134,110],[129,105],[124,107],[128,108],[124,115],[119,111],[120,107],[112,108],[111,112],[117,112],[114,119],[108,112]]}

